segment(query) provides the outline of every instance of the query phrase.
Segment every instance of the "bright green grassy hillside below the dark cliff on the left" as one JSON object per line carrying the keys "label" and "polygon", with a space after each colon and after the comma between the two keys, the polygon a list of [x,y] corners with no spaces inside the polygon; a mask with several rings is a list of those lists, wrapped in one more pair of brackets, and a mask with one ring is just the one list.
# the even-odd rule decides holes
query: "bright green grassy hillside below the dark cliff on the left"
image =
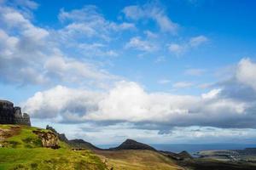
{"label": "bright green grassy hillside below the dark cliff on the left", "polygon": [[38,128],[0,125],[0,169],[106,169],[89,150],[73,151],[62,142],[57,150],[43,148],[33,130]]}

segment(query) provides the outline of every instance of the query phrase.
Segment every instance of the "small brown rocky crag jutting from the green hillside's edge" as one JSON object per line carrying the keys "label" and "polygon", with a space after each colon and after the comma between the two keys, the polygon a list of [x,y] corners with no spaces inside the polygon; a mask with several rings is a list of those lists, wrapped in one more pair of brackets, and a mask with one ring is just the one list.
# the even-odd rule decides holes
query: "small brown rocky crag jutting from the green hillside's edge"
{"label": "small brown rocky crag jutting from the green hillside's edge", "polygon": [[33,131],[33,133],[36,133],[42,141],[42,145],[45,148],[53,148],[58,149],[59,148],[59,139],[58,136],[55,133],[52,132],[44,132],[44,131]]}

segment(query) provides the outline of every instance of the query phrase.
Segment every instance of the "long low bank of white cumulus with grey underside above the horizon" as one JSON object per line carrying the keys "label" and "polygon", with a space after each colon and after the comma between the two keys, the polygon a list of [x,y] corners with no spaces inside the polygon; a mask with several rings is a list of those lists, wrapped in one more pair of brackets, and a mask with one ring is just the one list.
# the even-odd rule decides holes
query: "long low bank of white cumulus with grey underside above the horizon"
{"label": "long low bank of white cumulus with grey underside above the horizon", "polygon": [[195,125],[254,128],[255,99],[238,100],[225,93],[224,87],[199,96],[148,93],[136,82],[117,82],[106,93],[56,87],[28,99],[24,110],[33,117],[44,114],[66,122],[130,122],[137,128],[149,123],[159,130]]}

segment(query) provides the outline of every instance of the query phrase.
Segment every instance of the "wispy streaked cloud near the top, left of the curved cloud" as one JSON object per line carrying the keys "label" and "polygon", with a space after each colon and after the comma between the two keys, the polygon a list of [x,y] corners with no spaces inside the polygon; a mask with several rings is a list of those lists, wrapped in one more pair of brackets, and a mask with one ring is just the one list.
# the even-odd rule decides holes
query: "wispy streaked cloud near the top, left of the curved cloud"
{"label": "wispy streaked cloud near the top, left of the curved cloud", "polygon": [[106,20],[104,16],[98,12],[98,8],[93,5],[84,6],[81,9],[73,9],[65,11],[63,8],[59,14],[59,20],[67,23],[65,28],[59,31],[61,38],[66,40],[75,37],[99,38],[105,41],[112,39],[111,35],[116,31],[136,30],[136,26],[132,23],[115,23]]}

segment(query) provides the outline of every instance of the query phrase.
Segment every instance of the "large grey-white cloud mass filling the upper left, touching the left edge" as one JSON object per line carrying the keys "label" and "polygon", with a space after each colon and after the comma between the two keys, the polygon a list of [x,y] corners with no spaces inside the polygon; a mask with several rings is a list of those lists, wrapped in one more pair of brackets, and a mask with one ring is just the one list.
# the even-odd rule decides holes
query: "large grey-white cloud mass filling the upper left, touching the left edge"
{"label": "large grey-white cloud mass filling the upper left, touching the left edge", "polygon": [[[96,64],[64,54],[61,40],[55,38],[55,31],[34,26],[19,10],[2,5],[0,11],[0,22],[4,23],[0,29],[3,82],[55,84],[61,80],[103,87],[104,81],[115,78]],[[100,48],[98,46],[96,48]],[[113,50],[100,52],[102,55],[117,55]]]}

